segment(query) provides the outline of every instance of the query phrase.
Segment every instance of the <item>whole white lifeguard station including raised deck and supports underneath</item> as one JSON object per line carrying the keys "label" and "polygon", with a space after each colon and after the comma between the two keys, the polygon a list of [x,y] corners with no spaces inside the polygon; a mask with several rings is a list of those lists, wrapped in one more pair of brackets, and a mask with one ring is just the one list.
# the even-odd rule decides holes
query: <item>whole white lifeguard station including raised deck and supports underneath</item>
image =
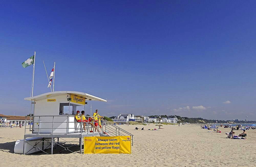
{"label": "whole white lifeguard station including raised deck and supports underneath", "polygon": [[[82,138],[99,135],[94,128],[88,130],[89,124],[85,131],[82,127],[83,123],[75,119],[75,114],[77,110],[86,111],[86,101],[106,102],[102,98],[82,92],[57,91],[27,97],[25,100],[31,101],[31,106],[34,104],[33,116],[27,118],[33,119],[33,125],[25,126],[24,140],[16,141],[15,153],[31,154],[37,151],[45,152],[45,149],[51,148],[52,154],[54,145],[59,143],[59,138],[79,138],[81,153]],[[32,133],[26,133],[29,130]],[[57,142],[55,142],[56,139]],[[65,147],[65,150],[68,150],[68,147]]]}

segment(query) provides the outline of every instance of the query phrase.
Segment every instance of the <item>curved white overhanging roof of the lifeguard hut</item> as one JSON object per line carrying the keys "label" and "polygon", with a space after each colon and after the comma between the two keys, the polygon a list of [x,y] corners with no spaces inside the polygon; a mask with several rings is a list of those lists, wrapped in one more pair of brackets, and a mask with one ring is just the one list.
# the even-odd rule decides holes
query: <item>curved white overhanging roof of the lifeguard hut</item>
{"label": "curved white overhanging roof of the lifeguard hut", "polygon": [[61,96],[61,95],[74,95],[74,96],[78,96],[81,98],[86,98],[87,100],[96,100],[96,101],[102,101],[102,102],[107,102],[106,100],[93,96],[93,95],[89,95],[87,93],[83,93],[83,92],[75,92],[75,91],[56,91],[56,92],[48,92],[48,93],[44,93],[41,95],[37,95],[37,96],[33,96],[33,97],[26,97],[24,98],[25,100],[33,100],[33,101],[38,101],[38,100],[43,100],[43,99],[47,99],[47,98],[51,98],[51,97],[55,97],[55,96]]}

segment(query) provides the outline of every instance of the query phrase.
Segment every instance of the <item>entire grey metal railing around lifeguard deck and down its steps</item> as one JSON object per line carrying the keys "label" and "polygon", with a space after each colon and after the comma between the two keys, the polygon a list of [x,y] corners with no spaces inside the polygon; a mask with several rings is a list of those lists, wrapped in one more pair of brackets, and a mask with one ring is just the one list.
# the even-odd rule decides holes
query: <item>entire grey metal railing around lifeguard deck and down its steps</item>
{"label": "entire grey metal railing around lifeguard deck and down its steps", "polygon": [[[95,128],[95,124],[97,121],[95,121],[94,118],[100,118],[100,117],[93,117],[93,116],[81,116],[81,122],[78,122],[75,118],[75,115],[43,115],[43,116],[27,116],[27,118],[31,120],[33,119],[33,125],[25,124],[25,135],[26,130],[32,130],[32,133],[34,134],[69,134],[69,133],[80,133],[80,134],[89,134],[89,133],[95,133],[98,132],[100,129],[100,126]],[[83,118],[84,117],[84,118]],[[63,121],[57,121],[56,119],[62,119]],[[89,121],[89,118],[91,121]],[[45,121],[42,121],[45,120]],[[84,121],[83,121],[84,120]],[[87,120],[87,121],[86,121]],[[47,125],[46,125],[47,124]],[[61,125],[61,127],[55,127],[56,124]],[[73,125],[72,125],[73,124]],[[43,125],[43,126],[42,126]],[[91,126],[89,126],[91,125]],[[46,130],[51,129],[51,130]],[[66,131],[64,132],[64,129]],[[133,145],[133,135],[130,132],[127,132],[126,130],[114,125],[112,122],[103,120],[102,119],[102,126],[101,126],[102,134],[106,133],[109,136],[131,136],[131,144]],[[46,131],[45,131],[46,130]]]}

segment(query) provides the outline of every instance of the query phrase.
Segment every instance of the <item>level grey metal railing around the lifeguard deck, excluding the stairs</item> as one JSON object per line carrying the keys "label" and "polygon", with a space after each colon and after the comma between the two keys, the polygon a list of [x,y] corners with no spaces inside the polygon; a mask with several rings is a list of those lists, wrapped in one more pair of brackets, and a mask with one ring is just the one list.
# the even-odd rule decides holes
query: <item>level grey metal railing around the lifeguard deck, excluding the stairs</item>
{"label": "level grey metal railing around the lifeguard deck, excluding the stairs", "polygon": [[[82,120],[81,122],[78,122],[76,120],[75,115],[27,116],[25,121],[27,121],[27,118],[30,119],[29,117],[31,117],[31,119],[33,118],[33,125],[25,124],[25,134],[26,134],[26,129],[32,130],[32,133],[38,133],[38,135],[41,133],[49,133],[54,135],[54,134],[68,134],[68,133],[78,133],[78,132],[81,134],[82,133],[84,134],[86,133],[86,130],[87,130],[87,134],[98,132],[99,129],[96,131],[98,127],[95,128],[94,126],[94,123],[97,122],[94,120],[94,118],[99,118],[99,117],[93,117],[93,116],[91,117],[86,115],[83,115],[83,116],[79,115],[79,116],[81,117],[81,120]],[[61,118],[63,121],[56,120],[59,118]],[[90,119],[92,118],[92,120],[88,121],[89,118]],[[42,119],[46,121],[42,121]],[[61,125],[61,127],[55,127],[56,124],[59,124],[59,126]],[[73,124],[74,126],[70,124]],[[89,127],[89,124],[91,125],[91,127]],[[44,125],[44,126],[42,127],[41,125]],[[89,130],[90,128],[91,130]],[[51,130],[47,130],[46,132],[45,129],[51,129]],[[66,131],[64,132],[61,129],[66,129]]]}

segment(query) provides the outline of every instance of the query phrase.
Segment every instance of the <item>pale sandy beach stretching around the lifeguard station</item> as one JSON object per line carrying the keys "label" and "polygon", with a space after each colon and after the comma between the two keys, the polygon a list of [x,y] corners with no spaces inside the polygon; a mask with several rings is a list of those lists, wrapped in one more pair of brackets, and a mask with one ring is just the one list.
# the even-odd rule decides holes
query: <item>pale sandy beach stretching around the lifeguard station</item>
{"label": "pale sandy beach stretching around the lifeguard station", "polygon": [[[66,153],[22,155],[14,153],[15,141],[23,139],[24,128],[0,128],[0,157],[3,166],[255,166],[256,130],[247,130],[247,139],[226,138],[230,128],[221,133],[200,129],[198,125],[154,124],[119,125],[131,132],[132,154]],[[242,133],[236,130],[236,135]],[[76,148],[75,148],[76,149]],[[78,151],[79,148],[77,146]]]}

